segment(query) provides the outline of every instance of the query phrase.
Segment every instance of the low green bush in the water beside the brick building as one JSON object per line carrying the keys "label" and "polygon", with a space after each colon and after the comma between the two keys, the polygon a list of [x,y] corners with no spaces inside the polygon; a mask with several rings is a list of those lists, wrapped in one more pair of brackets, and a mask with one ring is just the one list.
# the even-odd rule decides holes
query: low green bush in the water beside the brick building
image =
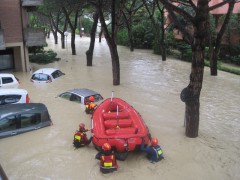
{"label": "low green bush in the water beside the brick building", "polygon": [[57,58],[57,53],[53,50],[43,51],[29,56],[29,61],[37,64],[48,64],[59,60],[60,58]]}

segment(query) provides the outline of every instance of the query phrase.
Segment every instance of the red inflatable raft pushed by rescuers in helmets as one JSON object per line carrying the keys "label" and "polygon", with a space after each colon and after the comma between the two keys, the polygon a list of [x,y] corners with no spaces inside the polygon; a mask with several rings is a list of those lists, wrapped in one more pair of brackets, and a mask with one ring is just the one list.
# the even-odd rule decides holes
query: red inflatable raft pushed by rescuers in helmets
{"label": "red inflatable raft pushed by rescuers in helmets", "polygon": [[142,138],[148,143],[150,134],[141,115],[119,98],[103,101],[92,115],[92,142],[96,148],[108,142],[117,152],[139,149]]}

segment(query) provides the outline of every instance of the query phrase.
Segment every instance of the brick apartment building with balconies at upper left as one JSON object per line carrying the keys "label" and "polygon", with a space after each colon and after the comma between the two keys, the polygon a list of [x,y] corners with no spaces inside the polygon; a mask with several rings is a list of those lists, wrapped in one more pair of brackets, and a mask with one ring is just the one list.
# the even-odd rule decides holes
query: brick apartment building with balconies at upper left
{"label": "brick apartment building with balconies at upper left", "polygon": [[43,0],[0,0],[0,71],[29,71],[28,47],[46,45],[44,29],[29,27]]}

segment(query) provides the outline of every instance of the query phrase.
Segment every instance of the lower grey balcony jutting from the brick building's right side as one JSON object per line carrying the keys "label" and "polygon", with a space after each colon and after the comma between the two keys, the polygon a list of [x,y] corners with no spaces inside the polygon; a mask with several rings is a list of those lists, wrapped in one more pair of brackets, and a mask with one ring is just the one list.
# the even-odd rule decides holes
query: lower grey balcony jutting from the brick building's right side
{"label": "lower grey balcony jutting from the brick building's right side", "polygon": [[24,29],[24,40],[27,47],[47,45],[45,32],[42,28]]}

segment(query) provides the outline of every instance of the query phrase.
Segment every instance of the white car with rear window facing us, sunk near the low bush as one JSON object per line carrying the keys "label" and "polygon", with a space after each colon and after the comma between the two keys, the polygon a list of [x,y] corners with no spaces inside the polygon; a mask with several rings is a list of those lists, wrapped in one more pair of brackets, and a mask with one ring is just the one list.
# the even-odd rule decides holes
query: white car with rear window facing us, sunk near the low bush
{"label": "white car with rear window facing us, sunk near the low bush", "polygon": [[32,82],[38,83],[50,83],[55,81],[62,75],[65,75],[62,71],[55,68],[42,68],[35,71],[31,77]]}

